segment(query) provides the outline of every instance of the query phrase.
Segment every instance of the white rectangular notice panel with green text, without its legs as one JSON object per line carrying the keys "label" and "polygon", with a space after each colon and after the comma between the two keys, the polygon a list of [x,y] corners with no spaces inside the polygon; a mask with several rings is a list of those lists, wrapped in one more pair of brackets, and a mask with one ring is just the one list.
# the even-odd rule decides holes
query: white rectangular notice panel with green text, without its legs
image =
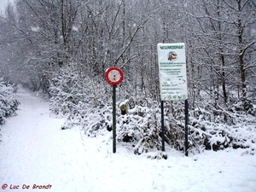
{"label": "white rectangular notice panel with green text, without its legs", "polygon": [[161,101],[188,99],[185,44],[157,44]]}

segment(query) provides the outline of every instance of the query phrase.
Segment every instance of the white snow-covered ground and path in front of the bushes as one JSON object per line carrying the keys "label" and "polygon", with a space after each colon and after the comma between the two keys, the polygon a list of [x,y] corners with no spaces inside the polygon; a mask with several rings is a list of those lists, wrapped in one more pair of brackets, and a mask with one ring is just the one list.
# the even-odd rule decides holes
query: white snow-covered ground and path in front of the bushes
{"label": "white snow-covered ground and path in front of the bushes", "polygon": [[117,143],[113,154],[112,132],[61,130],[48,102],[22,89],[19,100],[18,115],[1,127],[0,191],[256,191],[256,157],[241,149],[186,157],[167,148],[167,160],[151,160]]}

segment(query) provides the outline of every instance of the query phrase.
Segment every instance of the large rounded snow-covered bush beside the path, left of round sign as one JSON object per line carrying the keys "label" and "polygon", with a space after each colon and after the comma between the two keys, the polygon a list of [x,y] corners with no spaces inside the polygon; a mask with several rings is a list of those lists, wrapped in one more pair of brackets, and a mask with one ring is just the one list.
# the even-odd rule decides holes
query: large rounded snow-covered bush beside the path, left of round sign
{"label": "large rounded snow-covered bush beside the path, left of round sign", "polygon": [[62,67],[50,82],[49,108],[55,115],[67,117],[62,129],[80,125],[86,126],[86,131],[94,130],[102,122],[103,108],[109,106],[108,90],[104,89],[105,86],[85,76],[82,70],[78,72],[77,66]]}

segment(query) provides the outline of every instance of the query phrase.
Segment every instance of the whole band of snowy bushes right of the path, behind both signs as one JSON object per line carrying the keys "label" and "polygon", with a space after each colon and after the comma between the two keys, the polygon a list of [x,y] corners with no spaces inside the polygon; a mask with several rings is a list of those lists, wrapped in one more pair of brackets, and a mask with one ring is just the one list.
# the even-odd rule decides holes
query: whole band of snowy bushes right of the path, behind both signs
{"label": "whole band of snowy bushes right of the path, behind both signs", "polygon": [[[63,70],[50,87],[50,110],[66,116],[62,129],[79,126],[88,137],[112,131],[111,93],[101,83],[90,82],[83,75]],[[71,73],[70,73],[71,72]],[[64,78],[65,77],[65,78]],[[247,112],[239,102],[229,107],[213,107],[209,98],[189,108],[189,153],[205,149],[247,148],[256,150],[255,107]],[[125,113],[120,108],[125,106]],[[117,102],[117,140],[134,154],[161,150],[160,102],[151,98],[130,96]],[[165,102],[165,142],[184,152],[184,103]]]}

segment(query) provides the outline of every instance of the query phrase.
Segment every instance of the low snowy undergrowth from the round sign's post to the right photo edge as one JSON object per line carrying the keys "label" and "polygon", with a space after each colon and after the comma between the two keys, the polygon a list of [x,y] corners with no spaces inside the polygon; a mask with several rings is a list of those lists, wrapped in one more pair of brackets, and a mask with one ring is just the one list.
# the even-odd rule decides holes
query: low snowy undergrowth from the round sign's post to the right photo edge
{"label": "low snowy undergrowth from the round sign's post to the right photo edge", "polygon": [[[128,105],[129,106],[129,105]],[[182,102],[166,103],[165,141],[172,148],[184,150],[184,110]],[[211,111],[196,116],[195,110],[189,112],[189,152],[198,153],[205,149],[247,148],[248,154],[256,151],[256,117],[251,114],[229,113],[232,123],[214,117]],[[203,109],[201,108],[201,111]],[[193,115],[195,114],[195,115]],[[211,114],[212,119],[204,115]],[[160,150],[160,108],[156,103],[150,108],[139,103],[119,115],[119,142],[133,143],[135,154],[150,150]]]}

